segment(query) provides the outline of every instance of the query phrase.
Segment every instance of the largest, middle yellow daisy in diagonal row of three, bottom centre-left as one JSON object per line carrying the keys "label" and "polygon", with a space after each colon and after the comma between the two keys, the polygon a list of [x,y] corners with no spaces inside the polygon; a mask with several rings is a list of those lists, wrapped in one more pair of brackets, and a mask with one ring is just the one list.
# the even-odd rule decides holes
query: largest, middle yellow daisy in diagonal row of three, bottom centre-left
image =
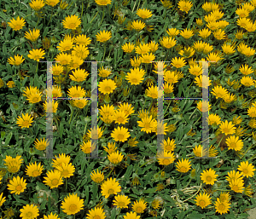
{"label": "largest, middle yellow daisy in diagonal row of three, bottom centre-left", "polygon": [[106,199],[108,199],[111,194],[117,194],[119,192],[121,192],[121,187],[115,178],[108,178],[107,181],[102,183],[102,195],[105,196]]}

